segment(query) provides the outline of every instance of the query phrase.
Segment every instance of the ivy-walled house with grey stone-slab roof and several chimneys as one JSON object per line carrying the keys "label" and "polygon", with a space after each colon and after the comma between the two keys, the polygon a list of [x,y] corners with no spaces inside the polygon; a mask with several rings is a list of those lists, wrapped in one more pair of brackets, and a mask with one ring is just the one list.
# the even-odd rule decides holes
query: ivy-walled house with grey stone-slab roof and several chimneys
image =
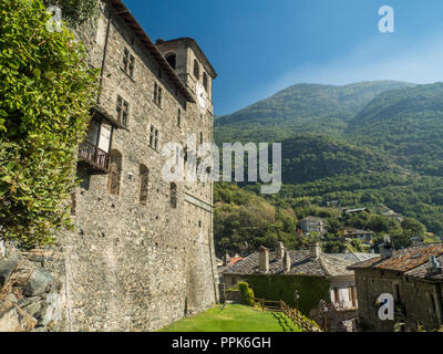
{"label": "ivy-walled house with grey stone-slab roof and several chimneys", "polygon": [[[257,298],[295,305],[295,291],[299,292],[299,310],[309,315],[320,300],[342,311],[348,317],[357,317],[357,291],[354,274],[347,267],[377,257],[370,253],[321,252],[319,243],[309,250],[285,250],[280,243],[276,251],[261,247],[222,272],[226,288],[246,280]],[[334,324],[337,325],[337,324]],[[332,325],[333,326],[333,325]]]}

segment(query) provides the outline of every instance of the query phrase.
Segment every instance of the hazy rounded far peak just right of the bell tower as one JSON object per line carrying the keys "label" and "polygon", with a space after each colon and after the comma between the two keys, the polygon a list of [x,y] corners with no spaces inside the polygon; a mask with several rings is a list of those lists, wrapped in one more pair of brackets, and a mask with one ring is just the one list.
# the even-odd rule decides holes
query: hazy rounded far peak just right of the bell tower
{"label": "hazy rounded far peak just right of the bell tower", "polygon": [[217,142],[282,140],[302,133],[340,134],[380,93],[411,84],[362,82],[346,86],[298,84],[215,121]]}

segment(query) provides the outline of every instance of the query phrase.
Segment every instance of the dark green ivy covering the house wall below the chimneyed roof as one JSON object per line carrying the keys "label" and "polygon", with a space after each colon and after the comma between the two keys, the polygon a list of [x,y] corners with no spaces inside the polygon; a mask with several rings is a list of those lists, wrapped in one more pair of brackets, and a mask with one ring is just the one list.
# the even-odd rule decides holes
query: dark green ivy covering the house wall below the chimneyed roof
{"label": "dark green ivy covering the house wall below the chimneyed roof", "polygon": [[295,291],[299,292],[298,309],[305,315],[318,305],[320,300],[330,300],[329,281],[321,277],[307,275],[245,275],[257,298],[268,301],[285,301],[296,308]]}

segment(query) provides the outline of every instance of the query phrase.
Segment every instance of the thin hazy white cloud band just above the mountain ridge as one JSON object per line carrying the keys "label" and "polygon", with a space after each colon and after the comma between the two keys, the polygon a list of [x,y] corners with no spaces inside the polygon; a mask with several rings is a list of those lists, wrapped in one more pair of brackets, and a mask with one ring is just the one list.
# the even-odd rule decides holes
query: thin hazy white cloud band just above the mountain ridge
{"label": "thin hazy white cloud band just above the mountain ridge", "polygon": [[389,35],[378,35],[328,63],[298,66],[258,88],[250,98],[256,102],[297,83],[344,85],[395,80],[424,84],[443,81],[443,33],[422,42],[405,42]]}

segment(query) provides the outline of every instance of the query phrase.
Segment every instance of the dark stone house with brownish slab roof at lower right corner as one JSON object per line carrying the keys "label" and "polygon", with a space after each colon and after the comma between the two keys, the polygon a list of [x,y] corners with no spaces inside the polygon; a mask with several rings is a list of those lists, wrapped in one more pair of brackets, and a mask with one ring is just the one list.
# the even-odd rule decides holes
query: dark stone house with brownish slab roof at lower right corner
{"label": "dark stone house with brownish slab roof at lower right corner", "polygon": [[[443,244],[421,244],[392,251],[382,243],[378,258],[349,267],[356,272],[359,313],[363,330],[391,332],[404,323],[404,331],[426,331],[443,325]],[[377,299],[383,294],[394,299],[394,320],[381,321]]]}

